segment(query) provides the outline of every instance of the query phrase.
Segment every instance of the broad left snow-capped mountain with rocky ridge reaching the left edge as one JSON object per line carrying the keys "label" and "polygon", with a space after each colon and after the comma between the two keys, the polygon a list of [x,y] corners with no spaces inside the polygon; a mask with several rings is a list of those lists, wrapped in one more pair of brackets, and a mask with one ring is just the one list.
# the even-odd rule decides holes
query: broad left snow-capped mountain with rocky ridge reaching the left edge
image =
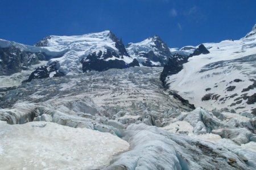
{"label": "broad left snow-capped mountain with rocky ridge reaching the left edge", "polygon": [[47,65],[40,65],[41,67],[31,71],[26,82],[92,70],[139,66],[138,61],[126,52],[122,40],[110,31],[81,36],[48,36],[36,46],[0,40],[0,56],[0,76],[31,71],[34,69],[33,65],[48,61]]}

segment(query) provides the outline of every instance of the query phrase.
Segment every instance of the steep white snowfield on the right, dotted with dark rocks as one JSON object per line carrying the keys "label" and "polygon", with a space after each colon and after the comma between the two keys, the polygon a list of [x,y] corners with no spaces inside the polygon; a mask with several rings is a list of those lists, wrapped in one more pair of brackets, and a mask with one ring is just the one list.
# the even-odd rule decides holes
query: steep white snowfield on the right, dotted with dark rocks
{"label": "steep white snowfield on the right, dotted with dark rocks", "polygon": [[[189,58],[183,70],[167,77],[170,89],[178,91],[196,107],[251,112],[255,104],[247,104],[246,99],[255,94],[256,88],[243,89],[256,80],[256,36],[204,45],[209,54]],[[202,101],[207,94],[210,99],[206,97]]]}

